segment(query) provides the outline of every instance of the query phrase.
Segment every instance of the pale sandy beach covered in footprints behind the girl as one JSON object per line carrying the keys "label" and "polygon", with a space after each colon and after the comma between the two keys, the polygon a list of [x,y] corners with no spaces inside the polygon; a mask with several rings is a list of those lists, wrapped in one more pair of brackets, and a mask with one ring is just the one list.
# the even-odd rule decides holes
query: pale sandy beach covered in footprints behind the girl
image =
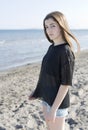
{"label": "pale sandy beach covered in footprints behind the girl", "polygon": [[[41,63],[0,72],[0,130],[47,130],[41,101],[29,101]],[[76,59],[66,130],[88,130],[88,50]]]}

